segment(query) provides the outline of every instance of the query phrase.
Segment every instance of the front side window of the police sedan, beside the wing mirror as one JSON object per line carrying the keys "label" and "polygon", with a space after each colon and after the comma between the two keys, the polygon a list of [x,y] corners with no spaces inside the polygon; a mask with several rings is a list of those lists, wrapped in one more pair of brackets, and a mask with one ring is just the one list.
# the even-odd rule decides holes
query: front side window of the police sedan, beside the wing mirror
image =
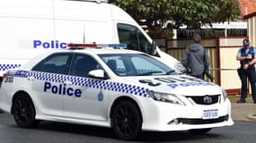
{"label": "front side window of the police sedan, beside the wing mirror", "polygon": [[90,55],[74,55],[70,74],[79,77],[89,77],[89,71],[102,69],[101,65]]}

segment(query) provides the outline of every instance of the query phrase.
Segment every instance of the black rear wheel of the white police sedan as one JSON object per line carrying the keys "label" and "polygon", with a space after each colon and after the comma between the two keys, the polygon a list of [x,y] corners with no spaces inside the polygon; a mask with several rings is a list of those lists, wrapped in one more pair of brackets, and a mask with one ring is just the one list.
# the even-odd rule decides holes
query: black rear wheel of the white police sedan
{"label": "black rear wheel of the white police sedan", "polygon": [[27,95],[20,95],[13,102],[13,116],[16,124],[21,128],[34,128],[39,121],[35,119],[36,110]]}

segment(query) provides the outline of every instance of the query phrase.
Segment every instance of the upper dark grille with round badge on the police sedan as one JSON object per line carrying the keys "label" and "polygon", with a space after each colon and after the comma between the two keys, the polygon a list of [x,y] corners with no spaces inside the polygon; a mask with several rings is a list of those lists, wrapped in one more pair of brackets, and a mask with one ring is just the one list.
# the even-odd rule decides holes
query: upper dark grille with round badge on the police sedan
{"label": "upper dark grille with round badge on the police sedan", "polygon": [[188,97],[191,98],[198,105],[213,105],[219,101],[220,95],[214,96],[201,96],[201,97]]}

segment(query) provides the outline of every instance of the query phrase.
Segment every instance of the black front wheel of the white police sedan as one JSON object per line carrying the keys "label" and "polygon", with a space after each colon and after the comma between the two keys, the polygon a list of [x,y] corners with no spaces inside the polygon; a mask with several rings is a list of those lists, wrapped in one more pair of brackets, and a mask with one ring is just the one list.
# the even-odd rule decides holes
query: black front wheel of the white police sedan
{"label": "black front wheel of the white police sedan", "polygon": [[119,139],[136,139],[141,130],[142,119],[137,108],[128,101],[121,101],[114,108],[111,126]]}

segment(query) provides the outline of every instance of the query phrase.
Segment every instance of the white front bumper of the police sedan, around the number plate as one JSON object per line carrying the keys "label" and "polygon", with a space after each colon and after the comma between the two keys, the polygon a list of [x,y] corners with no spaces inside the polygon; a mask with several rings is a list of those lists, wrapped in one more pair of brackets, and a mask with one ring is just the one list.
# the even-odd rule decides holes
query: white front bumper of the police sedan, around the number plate
{"label": "white front bumper of the police sedan, around the number plate", "polygon": [[[231,104],[225,102],[215,105],[172,105],[154,102],[143,107],[142,130],[193,130],[231,126]],[[204,111],[217,111],[214,118],[203,118]]]}

